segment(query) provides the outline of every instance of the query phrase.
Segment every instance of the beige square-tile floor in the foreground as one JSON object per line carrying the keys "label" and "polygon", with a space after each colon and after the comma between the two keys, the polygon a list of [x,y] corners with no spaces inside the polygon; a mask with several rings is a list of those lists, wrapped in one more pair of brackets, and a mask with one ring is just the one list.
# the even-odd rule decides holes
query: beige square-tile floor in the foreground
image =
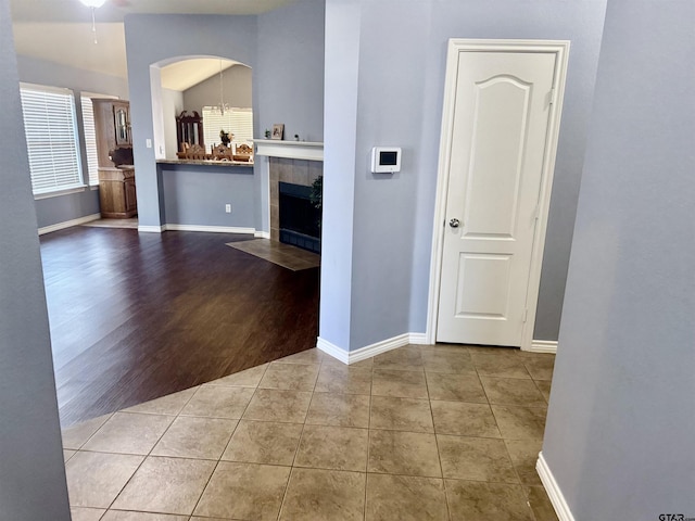
{"label": "beige square-tile floor in the foreground", "polygon": [[557,521],[553,355],[316,350],[63,432],[74,521]]}

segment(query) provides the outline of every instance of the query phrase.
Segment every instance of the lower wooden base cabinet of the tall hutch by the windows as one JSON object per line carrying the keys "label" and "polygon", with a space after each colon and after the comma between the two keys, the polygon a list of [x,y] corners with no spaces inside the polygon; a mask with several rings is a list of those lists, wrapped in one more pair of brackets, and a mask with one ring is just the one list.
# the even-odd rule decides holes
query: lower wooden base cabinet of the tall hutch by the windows
{"label": "lower wooden base cabinet of the tall hutch by the windows", "polygon": [[99,204],[104,218],[128,219],[138,214],[135,168],[99,168]]}

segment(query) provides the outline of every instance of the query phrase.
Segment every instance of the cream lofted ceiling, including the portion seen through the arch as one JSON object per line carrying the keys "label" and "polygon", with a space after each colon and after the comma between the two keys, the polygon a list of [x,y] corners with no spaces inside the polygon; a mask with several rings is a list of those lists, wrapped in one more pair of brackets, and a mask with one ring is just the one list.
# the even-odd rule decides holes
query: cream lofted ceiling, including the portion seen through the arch
{"label": "cream lofted ceiling, including the portion seen through the arch", "polygon": [[[17,54],[126,78],[123,26],[126,14],[252,15],[293,1],[106,0],[103,7],[94,10],[98,43],[91,31],[91,10],[79,0],[11,0],[10,4]],[[188,88],[216,73],[219,73],[217,60],[189,63],[163,73],[163,86],[182,90],[175,86],[187,85],[185,88]],[[177,78],[177,74],[186,77]]]}

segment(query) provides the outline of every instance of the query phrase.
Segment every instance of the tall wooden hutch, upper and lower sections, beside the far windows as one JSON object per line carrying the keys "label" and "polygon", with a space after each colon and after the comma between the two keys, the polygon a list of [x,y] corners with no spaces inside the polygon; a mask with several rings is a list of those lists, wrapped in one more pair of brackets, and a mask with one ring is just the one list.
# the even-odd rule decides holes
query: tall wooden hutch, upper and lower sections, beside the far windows
{"label": "tall wooden hutch, upper and lower sections, beside the far windows", "polygon": [[[92,99],[97,154],[99,157],[99,201],[104,218],[130,218],[138,214],[135,168],[118,165],[132,162],[130,104],[124,100]],[[114,162],[115,161],[115,162]]]}

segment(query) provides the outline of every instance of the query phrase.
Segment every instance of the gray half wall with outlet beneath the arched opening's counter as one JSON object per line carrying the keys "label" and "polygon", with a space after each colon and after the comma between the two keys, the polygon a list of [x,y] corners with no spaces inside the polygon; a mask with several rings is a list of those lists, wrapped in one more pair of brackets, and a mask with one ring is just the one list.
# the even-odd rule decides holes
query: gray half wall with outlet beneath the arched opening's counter
{"label": "gray half wall with outlet beneath the arched opening's counter", "polygon": [[[172,225],[254,228],[253,168],[160,164],[165,220]],[[231,213],[225,205],[231,204]]]}

